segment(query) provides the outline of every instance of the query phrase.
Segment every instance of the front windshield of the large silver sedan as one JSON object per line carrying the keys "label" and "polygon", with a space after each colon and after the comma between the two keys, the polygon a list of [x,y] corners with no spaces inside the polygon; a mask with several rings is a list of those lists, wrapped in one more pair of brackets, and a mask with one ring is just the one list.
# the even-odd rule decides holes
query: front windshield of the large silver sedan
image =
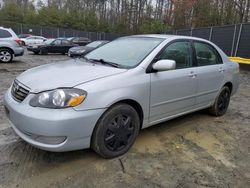
{"label": "front windshield of the large silver sedan", "polygon": [[124,67],[135,67],[164,39],[149,37],[124,37],[97,48],[85,57],[102,59]]}

